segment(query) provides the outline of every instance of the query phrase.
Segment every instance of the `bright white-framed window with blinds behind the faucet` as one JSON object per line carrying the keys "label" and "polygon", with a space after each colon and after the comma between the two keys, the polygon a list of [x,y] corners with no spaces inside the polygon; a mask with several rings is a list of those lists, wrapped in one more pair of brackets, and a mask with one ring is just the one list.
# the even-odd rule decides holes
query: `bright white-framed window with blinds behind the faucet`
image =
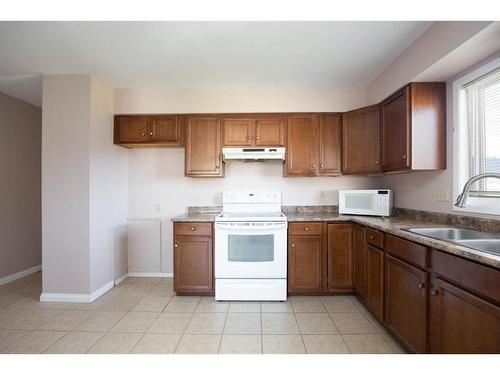
{"label": "bright white-framed window with blinds behind the faucet", "polygon": [[[500,173],[500,59],[481,66],[453,83],[454,197],[471,177]],[[475,183],[465,208],[500,215],[500,180]]]}

